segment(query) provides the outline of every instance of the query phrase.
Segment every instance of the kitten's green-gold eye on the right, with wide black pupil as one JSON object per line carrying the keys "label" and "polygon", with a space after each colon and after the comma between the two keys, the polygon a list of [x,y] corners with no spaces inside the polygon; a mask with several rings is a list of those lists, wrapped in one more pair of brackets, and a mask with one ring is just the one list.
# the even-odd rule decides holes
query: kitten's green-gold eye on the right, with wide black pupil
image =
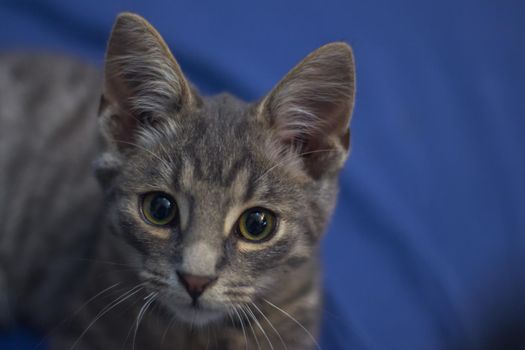
{"label": "kitten's green-gold eye on the right, with wide black pupil", "polygon": [[246,210],[237,224],[239,234],[251,242],[261,242],[275,230],[275,214],[264,208]]}

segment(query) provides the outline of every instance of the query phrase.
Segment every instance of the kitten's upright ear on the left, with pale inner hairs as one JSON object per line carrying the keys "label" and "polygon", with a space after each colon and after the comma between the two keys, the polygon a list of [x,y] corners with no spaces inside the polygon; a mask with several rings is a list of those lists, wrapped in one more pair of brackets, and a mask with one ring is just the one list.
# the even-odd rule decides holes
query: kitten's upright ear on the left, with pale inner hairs
{"label": "kitten's upright ear on the left, with pale inner hairs", "polygon": [[[123,147],[141,127],[195,102],[189,83],[159,33],[142,17],[120,14],[109,39],[101,104],[102,133]],[[109,107],[109,108],[107,108]]]}

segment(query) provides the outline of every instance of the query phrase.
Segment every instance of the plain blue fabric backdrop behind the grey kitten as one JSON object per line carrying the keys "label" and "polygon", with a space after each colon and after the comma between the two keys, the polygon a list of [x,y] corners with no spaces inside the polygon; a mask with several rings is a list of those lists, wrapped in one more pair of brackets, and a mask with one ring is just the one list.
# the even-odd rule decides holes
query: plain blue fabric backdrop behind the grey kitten
{"label": "plain blue fabric backdrop behind the grey kitten", "polygon": [[525,2],[4,0],[0,49],[101,64],[122,10],[205,93],[255,99],[316,47],[354,47],[323,349],[525,348]]}

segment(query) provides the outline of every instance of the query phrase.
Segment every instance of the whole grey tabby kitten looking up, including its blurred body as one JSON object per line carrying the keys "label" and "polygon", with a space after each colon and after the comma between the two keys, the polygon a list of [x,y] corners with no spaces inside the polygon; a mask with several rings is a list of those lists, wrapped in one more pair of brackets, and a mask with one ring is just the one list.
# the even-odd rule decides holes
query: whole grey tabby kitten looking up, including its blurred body
{"label": "whole grey tabby kitten looking up, including its blurred body", "polygon": [[[13,313],[58,323],[54,349],[318,347],[319,241],[349,150],[350,47],[321,47],[246,104],[200,96],[155,29],[122,14],[98,143],[97,74],[51,61],[68,90],[53,96],[69,99],[31,88],[40,114],[20,107],[30,93],[9,97],[20,63],[0,66],[0,98],[11,106],[0,104],[0,164],[10,174],[0,175],[0,293],[19,299]],[[50,308],[59,298],[67,311]]]}

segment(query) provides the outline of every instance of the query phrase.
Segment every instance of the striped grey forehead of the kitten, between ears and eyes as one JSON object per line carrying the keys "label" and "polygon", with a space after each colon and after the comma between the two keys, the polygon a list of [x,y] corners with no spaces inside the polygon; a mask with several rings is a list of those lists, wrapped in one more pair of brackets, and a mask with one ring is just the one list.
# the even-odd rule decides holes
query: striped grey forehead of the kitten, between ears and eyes
{"label": "striped grey forehead of the kitten, between ears and eyes", "polygon": [[130,167],[138,181],[153,175],[166,184],[175,181],[182,190],[195,190],[199,183],[204,192],[215,187],[232,188],[239,194],[240,188],[250,192],[268,187],[268,181],[286,182],[281,170],[294,168],[293,162],[281,163],[271,132],[256,121],[253,105],[229,94],[205,98],[199,107],[174,116],[168,125],[160,133],[143,134],[142,144],[159,157],[139,152],[135,160],[143,166]]}

